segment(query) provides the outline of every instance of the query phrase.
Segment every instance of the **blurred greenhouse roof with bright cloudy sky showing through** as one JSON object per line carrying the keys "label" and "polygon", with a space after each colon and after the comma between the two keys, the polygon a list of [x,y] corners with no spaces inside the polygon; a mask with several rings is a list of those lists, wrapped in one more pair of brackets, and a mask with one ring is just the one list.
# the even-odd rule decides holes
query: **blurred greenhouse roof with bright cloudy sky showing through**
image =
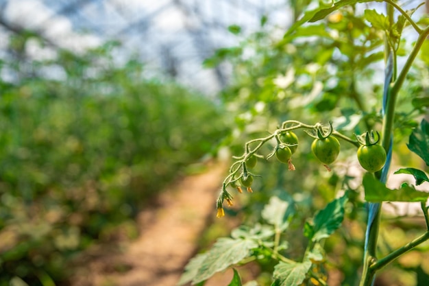
{"label": "blurred greenhouse roof with bright cloudy sky showing through", "polygon": [[[144,62],[148,77],[174,78],[213,93],[225,86],[230,71],[204,69],[201,63],[215,49],[237,44],[237,37],[228,32],[230,25],[250,34],[267,14],[267,25],[290,23],[287,6],[280,0],[1,0],[0,57],[13,56],[8,37],[24,31],[38,37],[22,47],[20,56],[27,60],[56,58],[58,49],[80,54],[119,41],[121,47],[112,53],[115,63],[136,57]],[[4,68],[2,76],[14,79]],[[53,70],[49,76],[62,78],[64,72]]]}

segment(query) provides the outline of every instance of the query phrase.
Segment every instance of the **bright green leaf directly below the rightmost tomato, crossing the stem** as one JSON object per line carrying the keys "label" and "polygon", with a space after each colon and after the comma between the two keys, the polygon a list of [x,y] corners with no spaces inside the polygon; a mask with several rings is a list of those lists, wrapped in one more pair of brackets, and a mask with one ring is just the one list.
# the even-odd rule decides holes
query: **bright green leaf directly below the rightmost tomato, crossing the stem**
{"label": "bright green leaf directly below the rightmost tomato, crossing the stem", "polygon": [[367,202],[425,202],[429,193],[417,191],[413,186],[402,184],[400,189],[389,189],[371,173],[363,176]]}

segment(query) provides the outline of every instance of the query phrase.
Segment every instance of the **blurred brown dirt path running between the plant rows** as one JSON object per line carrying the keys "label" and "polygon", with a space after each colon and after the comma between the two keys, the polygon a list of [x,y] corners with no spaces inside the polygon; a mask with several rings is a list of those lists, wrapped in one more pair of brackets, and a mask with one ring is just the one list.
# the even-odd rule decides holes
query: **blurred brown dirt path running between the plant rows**
{"label": "blurred brown dirt path running between the plant rows", "polygon": [[[215,198],[225,169],[225,165],[213,165],[208,172],[188,176],[162,193],[157,208],[138,216],[142,228],[138,239],[112,246],[122,249],[113,254],[99,250],[97,258],[86,261],[88,265],[75,274],[73,286],[176,285],[208,220],[215,216]],[[223,279],[230,279],[227,276]]]}

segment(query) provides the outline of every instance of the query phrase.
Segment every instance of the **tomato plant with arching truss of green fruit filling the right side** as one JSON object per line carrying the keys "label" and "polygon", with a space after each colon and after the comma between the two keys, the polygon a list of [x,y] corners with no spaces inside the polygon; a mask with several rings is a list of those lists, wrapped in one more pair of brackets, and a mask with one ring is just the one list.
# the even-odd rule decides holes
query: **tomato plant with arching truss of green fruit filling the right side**
{"label": "tomato plant with arching truss of green fruit filling the right side", "polygon": [[[241,208],[249,223],[192,259],[180,284],[204,283],[216,272],[249,261],[257,261],[263,272],[249,282],[256,285],[331,285],[330,274],[336,273],[332,268],[341,273],[341,281],[334,285],[369,286],[383,273],[387,273],[383,279],[395,279],[397,272],[413,272],[419,281],[429,281],[429,273],[420,266],[410,269],[401,261],[392,263],[429,239],[429,193],[415,187],[429,179],[421,162],[409,158],[414,152],[429,166],[429,123],[423,119],[429,106],[429,58],[424,52],[429,49],[429,21],[427,16],[416,19],[418,4],[405,10],[384,0],[383,14],[372,7],[361,9],[360,2],[295,1],[291,4],[295,21],[282,38],[264,32],[267,21],[261,21],[262,32],[231,48],[238,54],[211,59],[231,62],[236,75],[235,85],[223,93],[226,102],[239,106],[236,128],[227,139],[231,149],[243,152],[243,141],[237,143],[234,135],[249,137],[244,153],[233,157],[223,180],[216,202],[218,217],[224,215],[224,200],[232,200],[232,183],[247,179],[249,156],[258,153],[262,161],[262,156],[268,160],[276,155],[289,163],[293,154],[297,171],[284,173],[284,165],[269,162],[258,166],[262,175],[257,179],[258,197]],[[404,34],[415,34],[415,41],[410,43]],[[255,56],[240,53],[249,50]],[[377,83],[383,76],[384,81]],[[297,136],[299,150],[292,152],[298,140],[288,142],[284,136],[300,134],[299,130],[310,137]],[[377,140],[368,130],[380,130]],[[356,134],[365,131],[367,139],[361,142]],[[407,138],[408,151],[401,146]],[[332,173],[321,174],[314,157],[330,165]],[[389,173],[393,159],[413,165],[395,174],[412,175],[415,185],[386,186],[393,175]],[[356,168],[359,164],[367,172]],[[410,241],[391,247],[386,234],[397,225],[381,224],[384,202],[419,202],[424,228],[413,228],[413,234],[420,234],[413,237],[402,230]],[[399,223],[402,217],[390,218]],[[381,271],[388,264],[393,270]],[[230,285],[242,285],[237,271]]]}

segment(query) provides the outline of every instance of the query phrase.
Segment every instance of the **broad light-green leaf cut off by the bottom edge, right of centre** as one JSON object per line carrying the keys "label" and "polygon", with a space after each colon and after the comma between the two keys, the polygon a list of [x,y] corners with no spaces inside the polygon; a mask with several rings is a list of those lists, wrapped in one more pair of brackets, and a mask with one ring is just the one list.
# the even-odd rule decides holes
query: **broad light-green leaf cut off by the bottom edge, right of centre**
{"label": "broad light-green leaf cut off by the bottom edge, right of centre", "polygon": [[310,270],[311,262],[285,263],[280,261],[274,267],[274,279],[272,286],[295,286],[300,285]]}

